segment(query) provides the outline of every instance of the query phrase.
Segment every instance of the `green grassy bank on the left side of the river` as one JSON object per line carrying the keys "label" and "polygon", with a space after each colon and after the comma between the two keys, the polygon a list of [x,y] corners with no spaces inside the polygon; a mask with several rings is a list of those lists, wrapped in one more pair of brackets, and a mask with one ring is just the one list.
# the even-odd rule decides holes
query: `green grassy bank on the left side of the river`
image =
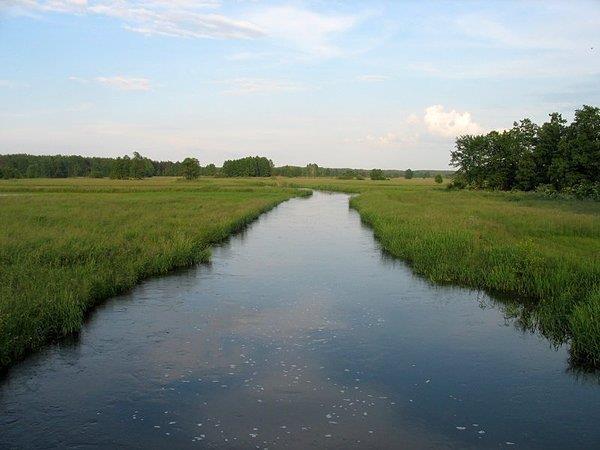
{"label": "green grassy bank on the left side of the river", "polygon": [[138,281],[207,260],[211,243],[300,194],[251,180],[0,182],[0,366]]}

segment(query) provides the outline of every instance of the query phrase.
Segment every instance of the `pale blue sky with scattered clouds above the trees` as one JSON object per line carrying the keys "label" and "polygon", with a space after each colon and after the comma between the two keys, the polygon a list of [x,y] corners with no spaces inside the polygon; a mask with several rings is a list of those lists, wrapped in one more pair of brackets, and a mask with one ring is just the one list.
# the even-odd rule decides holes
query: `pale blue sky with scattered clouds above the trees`
{"label": "pale blue sky with scattered clouds above the trees", "polygon": [[0,153],[446,169],[600,105],[600,1],[0,0]]}

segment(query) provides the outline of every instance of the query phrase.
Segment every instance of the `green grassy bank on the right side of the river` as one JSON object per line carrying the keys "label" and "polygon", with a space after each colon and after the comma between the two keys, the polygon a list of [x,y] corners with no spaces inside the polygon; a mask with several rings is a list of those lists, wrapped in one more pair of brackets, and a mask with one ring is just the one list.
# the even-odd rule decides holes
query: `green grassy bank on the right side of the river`
{"label": "green grassy bank on the right side of the river", "polygon": [[523,300],[524,328],[569,341],[574,363],[600,367],[600,203],[448,191],[431,180],[293,185],[361,193],[351,206],[418,274]]}

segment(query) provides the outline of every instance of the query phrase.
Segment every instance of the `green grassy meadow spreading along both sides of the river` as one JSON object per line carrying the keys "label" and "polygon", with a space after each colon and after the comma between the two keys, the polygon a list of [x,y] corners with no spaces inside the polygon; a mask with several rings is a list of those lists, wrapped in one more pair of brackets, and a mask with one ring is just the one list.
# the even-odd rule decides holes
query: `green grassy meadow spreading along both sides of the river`
{"label": "green grassy meadow spreading along both sides of the river", "polygon": [[100,299],[206,259],[210,243],[298,187],[360,193],[352,207],[418,274],[502,293],[524,329],[600,366],[599,203],[308,178],[0,182],[2,364],[76,331]]}

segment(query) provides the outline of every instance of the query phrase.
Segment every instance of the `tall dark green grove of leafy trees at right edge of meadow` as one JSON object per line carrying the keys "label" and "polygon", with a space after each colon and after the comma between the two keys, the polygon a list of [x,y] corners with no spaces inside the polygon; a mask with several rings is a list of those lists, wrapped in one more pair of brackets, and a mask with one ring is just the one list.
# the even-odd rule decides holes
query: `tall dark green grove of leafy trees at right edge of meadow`
{"label": "tall dark green grove of leafy trees at right edge of meadow", "polygon": [[456,139],[451,187],[537,190],[600,200],[600,108],[583,106],[570,124],[558,113],[536,125]]}

